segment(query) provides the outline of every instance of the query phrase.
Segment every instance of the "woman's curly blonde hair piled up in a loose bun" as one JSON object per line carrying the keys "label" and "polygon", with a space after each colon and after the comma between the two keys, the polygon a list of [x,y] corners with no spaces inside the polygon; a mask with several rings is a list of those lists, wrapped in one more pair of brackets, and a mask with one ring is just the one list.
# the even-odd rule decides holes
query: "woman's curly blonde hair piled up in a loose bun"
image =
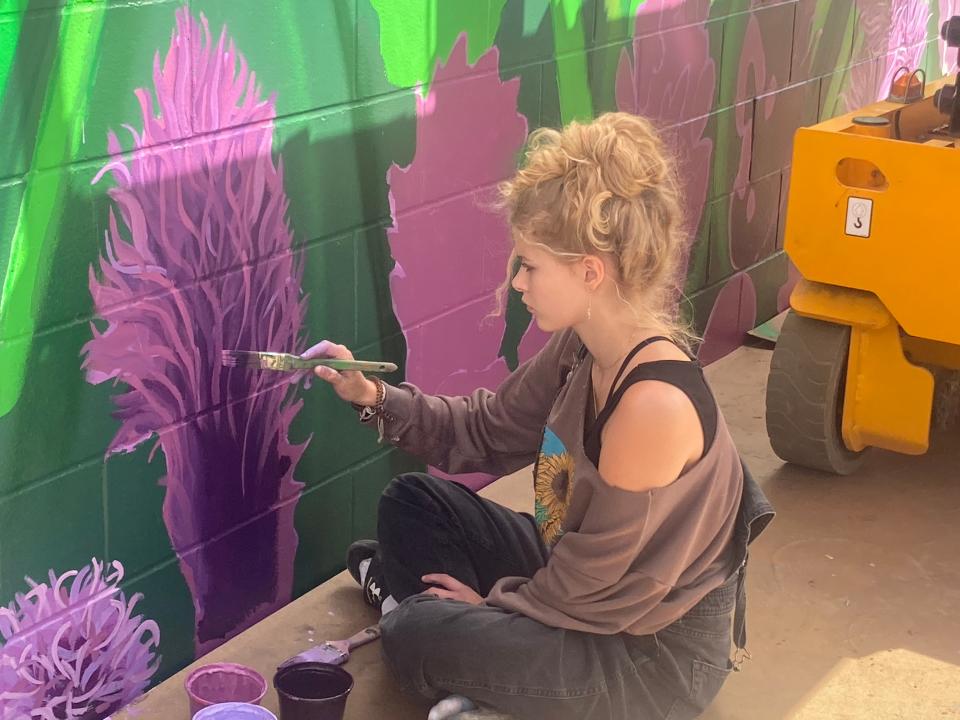
{"label": "woman's curly blonde hair piled up in a loose bun", "polygon": [[[514,233],[561,259],[607,255],[620,299],[640,325],[691,349],[697,338],[681,321],[687,255],[681,188],[673,158],[646,118],[606,113],[589,123],[531,133],[526,161],[499,186],[499,206]],[[515,272],[497,292],[502,312]]]}

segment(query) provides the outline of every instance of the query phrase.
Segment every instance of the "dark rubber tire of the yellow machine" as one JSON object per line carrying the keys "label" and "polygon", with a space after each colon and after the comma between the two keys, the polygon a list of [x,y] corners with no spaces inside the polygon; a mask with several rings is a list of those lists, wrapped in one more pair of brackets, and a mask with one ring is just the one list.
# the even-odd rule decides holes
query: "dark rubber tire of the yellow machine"
{"label": "dark rubber tire of the yellow machine", "polygon": [[767,379],[767,435],[781,459],[835,475],[863,463],[840,430],[849,349],[849,326],[787,314]]}

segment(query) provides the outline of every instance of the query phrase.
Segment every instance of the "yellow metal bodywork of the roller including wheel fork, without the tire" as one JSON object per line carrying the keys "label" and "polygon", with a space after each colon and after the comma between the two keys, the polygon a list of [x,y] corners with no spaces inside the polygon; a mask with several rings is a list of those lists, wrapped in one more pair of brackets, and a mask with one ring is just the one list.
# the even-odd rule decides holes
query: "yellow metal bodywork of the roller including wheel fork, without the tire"
{"label": "yellow metal bodywork of the roller including wheel fork, without the tire", "polygon": [[[914,363],[960,370],[960,142],[922,137],[944,123],[933,94],[949,81],[928,84],[921,102],[879,102],[795,137],[784,248],[804,279],[790,304],[851,328],[841,433],[853,451],[926,452],[934,379]],[[899,139],[858,116],[888,118]],[[869,237],[848,234],[852,198],[870,203]]]}

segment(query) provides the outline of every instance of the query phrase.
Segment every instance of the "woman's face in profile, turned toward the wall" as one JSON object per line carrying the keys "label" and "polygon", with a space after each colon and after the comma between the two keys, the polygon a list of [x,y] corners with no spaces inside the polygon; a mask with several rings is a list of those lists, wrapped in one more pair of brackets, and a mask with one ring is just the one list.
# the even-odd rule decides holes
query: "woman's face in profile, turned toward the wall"
{"label": "woman's face in profile, turned toward the wall", "polygon": [[588,293],[578,263],[563,262],[544,248],[517,240],[520,269],[514,290],[544,332],[573,327],[586,318]]}

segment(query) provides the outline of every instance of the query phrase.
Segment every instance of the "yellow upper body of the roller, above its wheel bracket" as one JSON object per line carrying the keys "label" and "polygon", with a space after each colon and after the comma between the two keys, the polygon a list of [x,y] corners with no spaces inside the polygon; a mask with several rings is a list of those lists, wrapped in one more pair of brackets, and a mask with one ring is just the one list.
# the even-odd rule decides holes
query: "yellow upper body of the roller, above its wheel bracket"
{"label": "yellow upper body of the roller, above its wheel bracket", "polygon": [[[876,103],[797,131],[784,248],[807,280],[872,293],[909,335],[960,345],[950,209],[960,148],[853,132],[855,116],[898,117],[902,135],[917,138],[944,121],[930,96],[945,82],[930,83],[915,105]],[[872,203],[869,237],[845,233],[851,198]]]}

